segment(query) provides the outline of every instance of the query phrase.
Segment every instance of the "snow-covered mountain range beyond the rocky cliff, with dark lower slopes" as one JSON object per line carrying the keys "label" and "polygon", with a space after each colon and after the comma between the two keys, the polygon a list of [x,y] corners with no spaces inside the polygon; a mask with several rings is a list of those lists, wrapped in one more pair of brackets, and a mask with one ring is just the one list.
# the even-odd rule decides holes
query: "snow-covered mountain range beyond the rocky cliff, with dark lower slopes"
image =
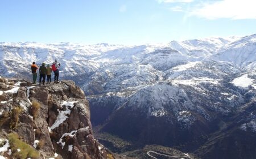
{"label": "snow-covered mountain range beyond the rocky cliff, with dark lower slopes", "polygon": [[[1,76],[32,79],[32,61],[55,59],[61,79],[84,89],[101,131],[189,151],[226,128],[255,135],[256,35],[141,46],[0,43]],[[235,115],[243,118],[236,124]]]}

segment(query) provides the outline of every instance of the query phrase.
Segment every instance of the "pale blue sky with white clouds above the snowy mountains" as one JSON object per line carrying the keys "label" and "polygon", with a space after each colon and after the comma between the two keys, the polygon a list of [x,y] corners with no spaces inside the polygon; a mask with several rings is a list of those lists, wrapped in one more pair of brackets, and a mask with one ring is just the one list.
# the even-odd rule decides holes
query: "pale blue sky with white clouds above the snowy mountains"
{"label": "pale blue sky with white clouds above the snowy mountains", "polygon": [[256,33],[254,0],[6,0],[0,41],[140,45]]}

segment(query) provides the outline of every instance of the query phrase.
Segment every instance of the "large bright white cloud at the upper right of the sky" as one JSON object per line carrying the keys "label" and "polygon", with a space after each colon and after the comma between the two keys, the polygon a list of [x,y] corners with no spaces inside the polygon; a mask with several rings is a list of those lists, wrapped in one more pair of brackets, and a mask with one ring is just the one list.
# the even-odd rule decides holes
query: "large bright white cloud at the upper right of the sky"
{"label": "large bright white cloud at the upper right of the sky", "polygon": [[255,0],[223,0],[203,3],[189,11],[189,16],[206,19],[256,19]]}

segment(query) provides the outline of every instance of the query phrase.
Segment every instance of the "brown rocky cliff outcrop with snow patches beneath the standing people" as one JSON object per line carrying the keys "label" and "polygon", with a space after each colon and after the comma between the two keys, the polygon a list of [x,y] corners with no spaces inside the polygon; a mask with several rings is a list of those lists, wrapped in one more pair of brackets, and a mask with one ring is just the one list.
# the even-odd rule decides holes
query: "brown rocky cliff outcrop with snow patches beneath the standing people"
{"label": "brown rocky cliff outcrop with snow patches beneath the standing people", "polygon": [[[113,157],[94,139],[88,101],[73,81],[38,87],[0,77],[0,126],[0,157],[18,158],[23,151],[10,134],[34,146],[38,158]],[[30,155],[25,158],[35,158]]]}

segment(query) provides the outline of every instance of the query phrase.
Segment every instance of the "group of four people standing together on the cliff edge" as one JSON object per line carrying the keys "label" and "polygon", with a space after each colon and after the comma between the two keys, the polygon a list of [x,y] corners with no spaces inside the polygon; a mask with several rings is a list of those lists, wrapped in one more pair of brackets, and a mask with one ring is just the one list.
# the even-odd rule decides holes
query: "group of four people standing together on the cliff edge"
{"label": "group of four people standing together on the cliff edge", "polygon": [[48,64],[47,67],[45,63],[42,63],[42,66],[40,67],[36,66],[35,62],[32,63],[31,71],[33,74],[33,84],[36,84],[36,79],[38,77],[38,73],[37,73],[38,68],[39,68],[39,85],[41,85],[41,83],[43,83],[44,85],[46,81],[46,77],[47,77],[47,84],[51,83],[52,71],[54,72],[54,83],[59,83],[60,63],[58,63],[56,59],[51,66]]}

